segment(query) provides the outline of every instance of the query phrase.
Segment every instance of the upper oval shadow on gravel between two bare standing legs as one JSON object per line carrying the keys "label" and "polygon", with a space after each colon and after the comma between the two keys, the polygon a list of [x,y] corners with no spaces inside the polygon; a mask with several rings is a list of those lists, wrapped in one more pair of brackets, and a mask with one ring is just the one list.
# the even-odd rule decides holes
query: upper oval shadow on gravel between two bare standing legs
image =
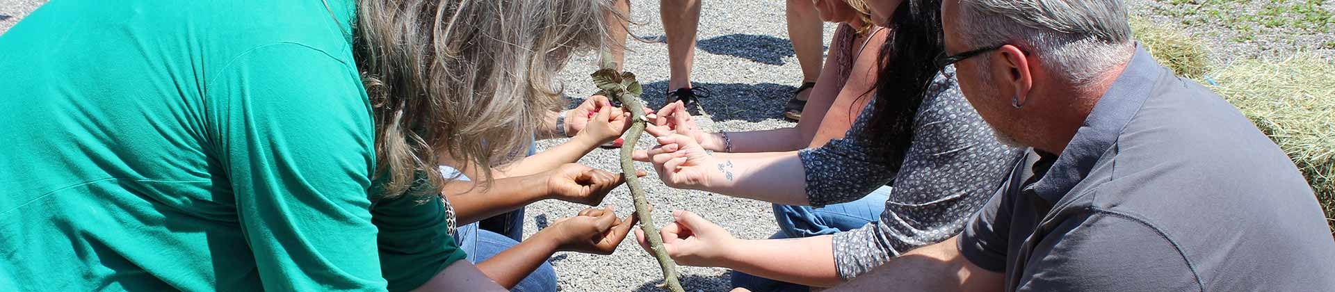
{"label": "upper oval shadow on gravel between two bare standing legs", "polygon": [[762,35],[733,33],[700,40],[696,47],[713,55],[728,55],[746,60],[782,65],[784,57],[793,56],[793,43],[788,39]]}

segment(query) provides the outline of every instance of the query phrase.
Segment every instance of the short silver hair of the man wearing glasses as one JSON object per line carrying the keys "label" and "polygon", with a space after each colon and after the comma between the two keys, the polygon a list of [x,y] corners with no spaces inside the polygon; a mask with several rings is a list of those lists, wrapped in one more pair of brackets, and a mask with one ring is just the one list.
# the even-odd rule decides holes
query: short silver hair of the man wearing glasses
{"label": "short silver hair of the man wearing glasses", "polygon": [[[1125,63],[1132,45],[1121,0],[960,0],[969,48],[1027,47],[1073,84]],[[988,80],[984,80],[988,81]]]}

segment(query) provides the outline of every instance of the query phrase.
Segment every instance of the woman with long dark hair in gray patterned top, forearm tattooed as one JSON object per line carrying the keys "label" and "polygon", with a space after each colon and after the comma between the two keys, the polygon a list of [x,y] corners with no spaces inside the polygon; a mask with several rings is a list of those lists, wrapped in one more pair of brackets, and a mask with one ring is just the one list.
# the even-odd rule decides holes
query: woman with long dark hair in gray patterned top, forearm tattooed
{"label": "woman with long dark hair in gray patterned top, forearm tattooed", "polygon": [[[845,203],[890,184],[880,220],[834,235],[738,240],[677,211],[677,221],[661,232],[678,263],[736,269],[733,284],[753,291],[832,287],[949,239],[991,197],[1019,152],[992,137],[960,93],[953,68],[933,64],[943,51],[940,1],[868,4],[893,31],[881,51],[876,99],[844,139],[797,152],[709,153],[696,141],[704,135],[698,127],[677,116],[682,112],[659,111],[666,116],[654,129],[661,147],[637,156],[653,161],[670,187],[780,204]],[[637,237],[643,244],[643,235]]]}

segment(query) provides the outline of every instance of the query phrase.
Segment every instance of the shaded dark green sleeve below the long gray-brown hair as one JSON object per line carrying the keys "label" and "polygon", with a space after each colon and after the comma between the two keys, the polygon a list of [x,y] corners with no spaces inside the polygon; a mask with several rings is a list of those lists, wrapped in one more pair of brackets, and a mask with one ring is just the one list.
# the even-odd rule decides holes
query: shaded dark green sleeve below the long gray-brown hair
{"label": "shaded dark green sleeve below the long gray-brown hair", "polygon": [[451,237],[450,208],[441,196],[399,196],[371,208],[380,229],[379,256],[390,291],[411,291],[467,256]]}

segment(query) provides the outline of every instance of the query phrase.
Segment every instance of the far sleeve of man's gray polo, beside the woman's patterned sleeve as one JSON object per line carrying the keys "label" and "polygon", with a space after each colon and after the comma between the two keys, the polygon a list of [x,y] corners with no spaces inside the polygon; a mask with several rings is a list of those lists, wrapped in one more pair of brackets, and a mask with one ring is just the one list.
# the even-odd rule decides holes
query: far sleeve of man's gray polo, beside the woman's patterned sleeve
{"label": "far sleeve of man's gray polo, beside the woman's patterned sleeve", "polygon": [[960,253],[975,265],[992,272],[1005,272],[1015,196],[1020,193],[1024,181],[1031,179],[1032,173],[1028,169],[1036,163],[1037,156],[1032,151],[1025,152],[1024,157],[1011,168],[1001,187],[960,232],[957,241]]}

